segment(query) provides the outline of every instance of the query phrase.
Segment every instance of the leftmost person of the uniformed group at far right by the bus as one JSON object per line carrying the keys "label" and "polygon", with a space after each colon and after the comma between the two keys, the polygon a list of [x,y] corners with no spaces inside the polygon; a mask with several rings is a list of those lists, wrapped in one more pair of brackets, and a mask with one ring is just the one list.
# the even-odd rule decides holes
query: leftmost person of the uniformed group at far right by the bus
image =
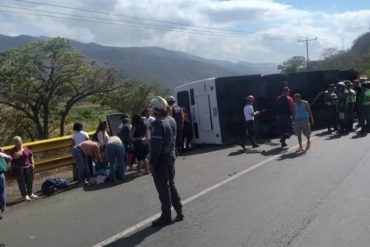
{"label": "leftmost person of the uniformed group at far right by the bus", "polygon": [[[335,85],[330,84],[328,90],[325,91],[325,105],[327,110],[327,127],[328,132],[337,130],[338,119],[338,96],[335,93]],[[333,130],[332,130],[333,128]]]}

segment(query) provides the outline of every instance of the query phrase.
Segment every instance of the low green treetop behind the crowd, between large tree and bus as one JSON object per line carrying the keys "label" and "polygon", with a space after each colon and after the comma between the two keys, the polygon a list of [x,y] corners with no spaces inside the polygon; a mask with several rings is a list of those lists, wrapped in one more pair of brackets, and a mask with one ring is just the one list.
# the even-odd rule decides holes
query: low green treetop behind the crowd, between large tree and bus
{"label": "low green treetop behind the crowd, between large tree and bus", "polygon": [[139,114],[145,107],[148,107],[154,96],[167,94],[168,90],[161,88],[154,82],[137,84],[132,81],[125,81],[119,90],[100,97],[99,102],[119,112],[132,115]]}

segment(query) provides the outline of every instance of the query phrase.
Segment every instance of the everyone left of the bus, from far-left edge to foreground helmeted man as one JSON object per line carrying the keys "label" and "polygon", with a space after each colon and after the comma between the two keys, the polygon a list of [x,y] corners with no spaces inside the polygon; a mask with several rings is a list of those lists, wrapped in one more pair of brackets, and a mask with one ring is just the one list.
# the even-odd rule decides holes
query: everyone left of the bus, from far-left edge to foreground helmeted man
{"label": "everyone left of the bus, from far-left edge to foreground helmeted man", "polygon": [[[175,160],[181,145],[178,138],[182,138],[179,128],[183,130],[183,121],[183,111],[175,104],[174,97],[169,97],[167,102],[157,96],[151,101],[151,109],[146,108],[142,116],[134,115],[131,120],[124,115],[117,136],[110,136],[108,123],[101,121],[90,140],[83,125],[75,123],[72,156],[77,164],[79,182],[88,184],[99,170],[109,171],[112,182],[123,179],[125,164],[132,165],[129,162],[133,159],[127,155],[131,152],[138,162],[138,172],[144,169],[144,174],[152,174],[159,194],[162,214],[152,225],[170,224],[171,206],[177,213],[175,220],[183,220],[181,199],[174,182]],[[9,155],[0,150],[0,219],[6,210],[5,172],[12,167],[22,197],[30,201],[38,198],[32,190],[34,166],[33,153],[19,136],[14,137]]]}

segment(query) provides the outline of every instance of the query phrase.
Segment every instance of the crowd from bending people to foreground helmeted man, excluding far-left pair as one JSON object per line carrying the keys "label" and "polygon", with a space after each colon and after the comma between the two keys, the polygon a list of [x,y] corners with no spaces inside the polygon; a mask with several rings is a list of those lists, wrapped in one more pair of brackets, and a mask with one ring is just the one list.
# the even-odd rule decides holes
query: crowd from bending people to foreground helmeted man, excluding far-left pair
{"label": "crowd from bending people to foreground helmeted man, excluding far-left pair", "polygon": [[109,136],[108,124],[102,121],[92,140],[82,130],[82,124],[75,123],[72,156],[77,164],[79,182],[88,185],[100,169],[109,170],[109,181],[123,179],[126,170],[133,168],[133,160],[137,160],[138,172],[144,170],[144,174],[153,175],[162,204],[162,215],[153,221],[153,226],[171,223],[171,205],[177,213],[176,220],[182,220],[182,204],[174,183],[175,159],[181,152],[182,112],[174,97],[166,101],[157,96],[152,99],[151,110],[146,108],[132,119],[124,114],[117,136]]}

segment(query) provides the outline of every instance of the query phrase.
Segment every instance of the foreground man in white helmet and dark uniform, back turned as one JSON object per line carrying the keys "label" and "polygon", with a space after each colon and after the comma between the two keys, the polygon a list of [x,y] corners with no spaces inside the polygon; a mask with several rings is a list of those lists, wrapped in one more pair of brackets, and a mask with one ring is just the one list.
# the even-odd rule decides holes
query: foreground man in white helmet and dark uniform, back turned
{"label": "foreground man in white helmet and dark uniform, back turned", "polygon": [[176,159],[176,122],[168,116],[167,102],[160,96],[152,99],[155,121],[152,125],[151,154],[149,169],[161,201],[161,216],[152,222],[152,226],[165,226],[171,223],[171,204],[177,221],[182,221],[182,204],[175,187]]}

